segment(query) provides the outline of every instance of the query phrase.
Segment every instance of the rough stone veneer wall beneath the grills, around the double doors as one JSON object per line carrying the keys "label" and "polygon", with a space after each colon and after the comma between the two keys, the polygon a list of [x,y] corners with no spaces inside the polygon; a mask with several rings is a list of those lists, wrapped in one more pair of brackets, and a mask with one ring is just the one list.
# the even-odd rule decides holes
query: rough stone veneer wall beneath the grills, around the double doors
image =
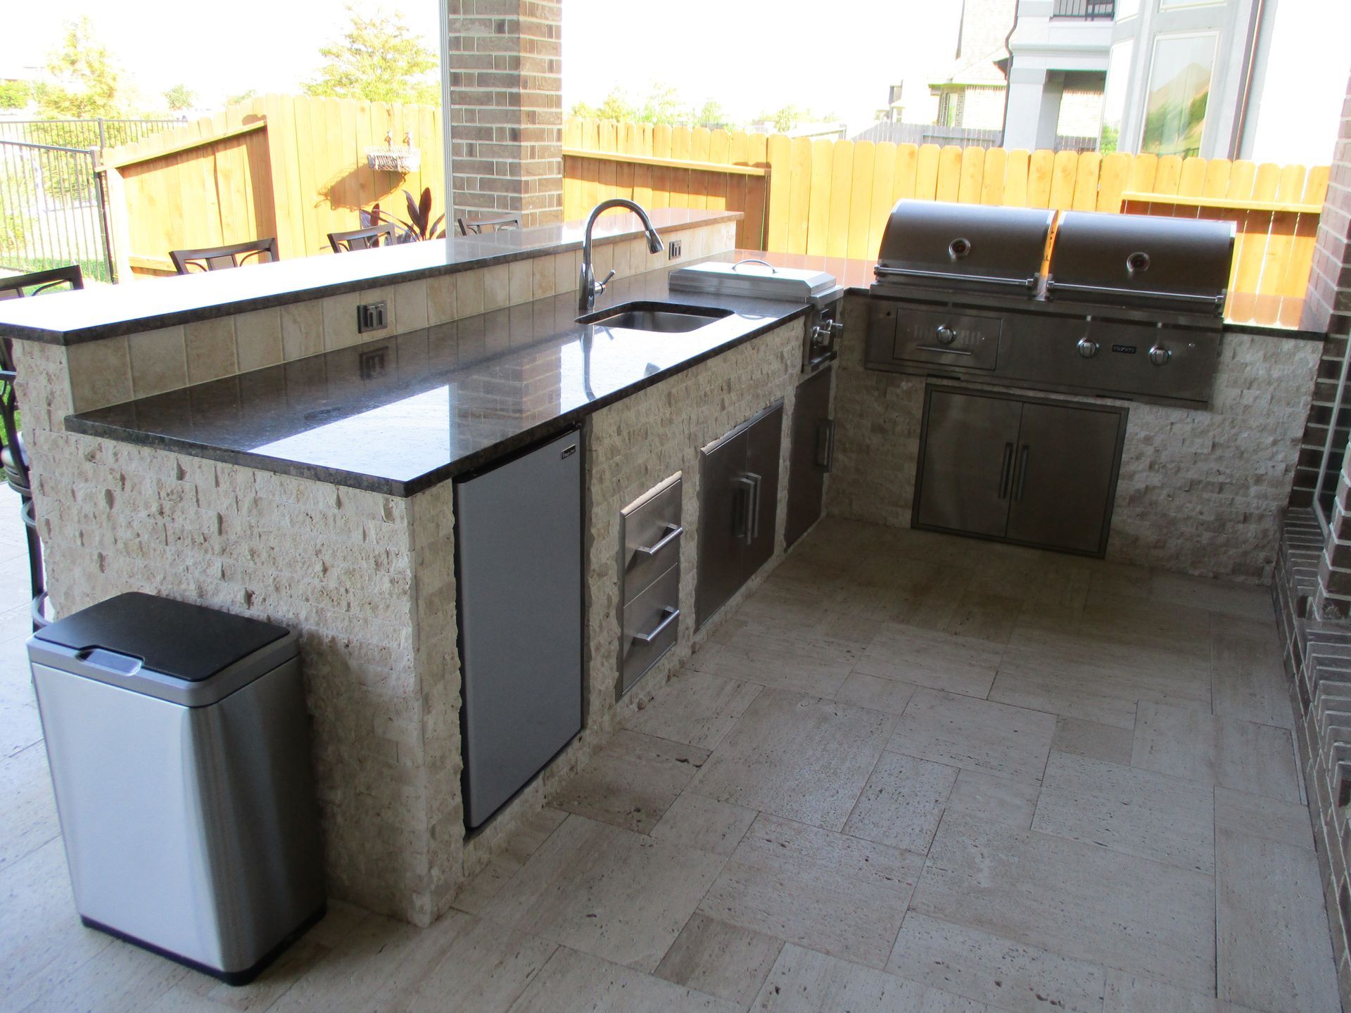
{"label": "rough stone veneer wall beneath the grills, around the double doors", "polygon": [[[830,509],[908,527],[927,381],[865,370],[865,327],[850,298]],[[1129,408],[1108,558],[1270,581],[1320,354],[1317,342],[1227,334],[1208,411],[1108,400]]]}

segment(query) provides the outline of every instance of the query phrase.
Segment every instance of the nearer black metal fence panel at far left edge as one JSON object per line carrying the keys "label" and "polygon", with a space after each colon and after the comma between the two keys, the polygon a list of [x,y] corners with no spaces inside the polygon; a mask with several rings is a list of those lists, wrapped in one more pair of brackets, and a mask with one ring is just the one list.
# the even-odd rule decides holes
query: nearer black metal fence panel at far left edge
{"label": "nearer black metal fence panel at far left edge", "polygon": [[92,150],[0,140],[0,267],[116,281],[103,186]]}

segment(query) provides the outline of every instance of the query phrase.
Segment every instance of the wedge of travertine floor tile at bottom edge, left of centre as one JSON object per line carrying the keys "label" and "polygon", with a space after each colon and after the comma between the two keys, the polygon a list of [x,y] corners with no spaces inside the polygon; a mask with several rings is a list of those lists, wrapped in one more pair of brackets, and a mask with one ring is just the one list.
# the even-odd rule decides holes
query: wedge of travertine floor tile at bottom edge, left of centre
{"label": "wedge of travertine floor tile at bottom edge, left of centre", "polygon": [[740,1006],[559,947],[511,1013],[738,1013]]}

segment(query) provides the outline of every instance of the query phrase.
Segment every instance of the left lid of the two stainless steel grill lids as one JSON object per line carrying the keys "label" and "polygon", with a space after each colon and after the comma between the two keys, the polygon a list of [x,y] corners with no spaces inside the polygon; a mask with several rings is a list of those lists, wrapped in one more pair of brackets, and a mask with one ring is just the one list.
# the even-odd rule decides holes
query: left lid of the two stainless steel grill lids
{"label": "left lid of the two stainless steel grill lids", "polygon": [[877,281],[892,288],[1036,296],[1054,211],[901,200],[882,232]]}

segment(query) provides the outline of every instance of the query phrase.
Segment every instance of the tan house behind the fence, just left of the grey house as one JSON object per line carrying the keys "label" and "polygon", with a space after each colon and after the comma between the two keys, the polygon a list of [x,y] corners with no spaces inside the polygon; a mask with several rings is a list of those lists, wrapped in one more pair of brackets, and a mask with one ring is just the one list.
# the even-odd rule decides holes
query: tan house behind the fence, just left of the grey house
{"label": "tan house behind the fence, just left of the grey house", "polygon": [[940,127],[997,131],[1004,124],[1006,42],[1016,14],[1017,0],[963,0],[952,66],[929,82]]}

